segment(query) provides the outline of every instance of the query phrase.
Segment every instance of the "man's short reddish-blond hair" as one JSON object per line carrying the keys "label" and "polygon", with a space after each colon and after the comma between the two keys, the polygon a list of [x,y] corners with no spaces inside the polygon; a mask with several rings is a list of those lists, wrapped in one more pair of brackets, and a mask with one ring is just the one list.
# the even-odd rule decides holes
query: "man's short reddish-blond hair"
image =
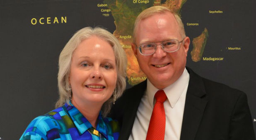
{"label": "man's short reddish-blond hair", "polygon": [[184,30],[184,25],[181,21],[181,18],[179,17],[178,14],[176,14],[175,12],[171,11],[170,9],[168,9],[167,7],[164,6],[153,6],[150,8],[147,8],[145,10],[143,10],[136,18],[135,23],[134,23],[134,28],[133,28],[133,43],[136,43],[136,33],[137,33],[137,29],[138,29],[138,24],[141,20],[146,19],[147,17],[153,16],[155,14],[164,14],[164,13],[172,13],[179,25],[179,34],[181,35],[182,38],[186,37],[186,33]]}

